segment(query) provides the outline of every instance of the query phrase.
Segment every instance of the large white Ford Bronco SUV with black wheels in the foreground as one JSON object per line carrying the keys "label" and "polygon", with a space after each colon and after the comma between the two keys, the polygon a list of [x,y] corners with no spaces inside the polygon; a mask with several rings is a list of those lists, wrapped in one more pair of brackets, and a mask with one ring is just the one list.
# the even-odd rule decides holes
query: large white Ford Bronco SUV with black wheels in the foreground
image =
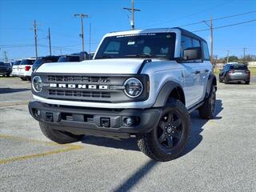
{"label": "large white Ford Bronco SUV with black wheels in the foreground", "polygon": [[184,150],[190,113],[213,118],[216,78],[207,43],[180,28],[106,34],[93,60],[46,63],[32,77],[30,114],[54,142],[84,134],[136,137],[170,161]]}

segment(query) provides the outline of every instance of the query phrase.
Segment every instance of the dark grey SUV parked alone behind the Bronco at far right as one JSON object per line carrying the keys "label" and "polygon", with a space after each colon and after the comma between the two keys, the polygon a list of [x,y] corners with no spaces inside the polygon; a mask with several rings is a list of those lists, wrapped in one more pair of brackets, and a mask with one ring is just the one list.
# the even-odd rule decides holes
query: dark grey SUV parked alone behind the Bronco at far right
{"label": "dark grey SUV parked alone behind the Bronco at far right", "polygon": [[226,64],[222,70],[220,70],[218,76],[219,82],[245,82],[250,84],[250,70],[248,70],[245,64]]}

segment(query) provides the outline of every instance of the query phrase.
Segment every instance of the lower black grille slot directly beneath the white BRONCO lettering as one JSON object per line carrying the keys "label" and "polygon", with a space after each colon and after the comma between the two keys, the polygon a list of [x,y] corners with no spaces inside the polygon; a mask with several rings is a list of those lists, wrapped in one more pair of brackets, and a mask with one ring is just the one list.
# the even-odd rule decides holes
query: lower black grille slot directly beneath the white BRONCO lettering
{"label": "lower black grille slot directly beneath the white BRONCO lettering", "polygon": [[68,96],[77,98],[110,98],[108,92],[93,92],[82,90],[49,90],[50,96]]}

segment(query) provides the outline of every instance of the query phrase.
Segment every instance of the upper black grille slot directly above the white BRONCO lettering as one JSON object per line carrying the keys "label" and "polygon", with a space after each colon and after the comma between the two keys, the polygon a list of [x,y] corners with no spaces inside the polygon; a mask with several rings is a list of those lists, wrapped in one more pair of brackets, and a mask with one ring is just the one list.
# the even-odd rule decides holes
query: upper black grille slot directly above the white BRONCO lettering
{"label": "upper black grille slot directly above the white BRONCO lettering", "polygon": [[49,82],[110,82],[109,77],[49,75]]}

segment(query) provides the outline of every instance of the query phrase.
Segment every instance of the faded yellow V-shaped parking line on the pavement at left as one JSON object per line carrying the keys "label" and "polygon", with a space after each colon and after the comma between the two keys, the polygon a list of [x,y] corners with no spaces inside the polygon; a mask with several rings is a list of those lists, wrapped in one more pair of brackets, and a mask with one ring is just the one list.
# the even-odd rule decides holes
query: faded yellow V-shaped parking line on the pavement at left
{"label": "faded yellow V-shaped parking line on the pavement at left", "polygon": [[12,135],[6,135],[6,134],[0,134],[0,138],[7,138],[7,139],[12,139],[15,141],[26,141],[26,142],[37,142],[37,143],[44,143],[46,145],[51,145],[51,146],[65,146],[64,149],[59,149],[59,150],[50,150],[45,153],[40,153],[40,154],[28,154],[24,156],[19,156],[19,157],[14,157],[14,158],[6,158],[6,159],[0,159],[0,165],[1,164],[6,164],[9,162],[17,162],[17,161],[24,161],[26,159],[30,158],[41,158],[50,154],[59,154],[63,152],[67,152],[70,150],[81,150],[83,147],[82,146],[76,146],[76,145],[70,145],[70,144],[65,144],[65,145],[59,145],[54,142],[43,142],[43,141],[38,141],[34,139],[29,139],[29,138],[19,138],[19,137],[14,137]]}

